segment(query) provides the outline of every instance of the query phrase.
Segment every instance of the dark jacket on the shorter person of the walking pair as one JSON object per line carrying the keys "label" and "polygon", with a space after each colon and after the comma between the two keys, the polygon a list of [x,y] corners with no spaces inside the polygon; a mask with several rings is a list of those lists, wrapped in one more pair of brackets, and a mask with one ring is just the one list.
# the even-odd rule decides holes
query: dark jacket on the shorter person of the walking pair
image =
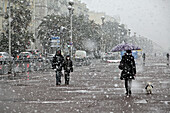
{"label": "dark jacket on the shorter person of the walking pair", "polygon": [[73,72],[73,63],[72,61],[69,59],[66,59],[65,62],[64,62],[64,70],[66,72]]}

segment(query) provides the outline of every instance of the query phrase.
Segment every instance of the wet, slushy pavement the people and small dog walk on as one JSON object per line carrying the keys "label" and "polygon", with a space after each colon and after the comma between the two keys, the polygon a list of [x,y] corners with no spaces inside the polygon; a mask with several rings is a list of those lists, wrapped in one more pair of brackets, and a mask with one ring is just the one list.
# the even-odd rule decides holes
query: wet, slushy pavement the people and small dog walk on
{"label": "wet, slushy pavement the people and small dog walk on", "polygon": [[[170,113],[170,67],[165,60],[137,61],[132,95],[125,95],[116,63],[75,67],[70,85],[55,86],[53,70],[0,77],[1,113]],[[147,82],[153,94],[145,91]]]}

